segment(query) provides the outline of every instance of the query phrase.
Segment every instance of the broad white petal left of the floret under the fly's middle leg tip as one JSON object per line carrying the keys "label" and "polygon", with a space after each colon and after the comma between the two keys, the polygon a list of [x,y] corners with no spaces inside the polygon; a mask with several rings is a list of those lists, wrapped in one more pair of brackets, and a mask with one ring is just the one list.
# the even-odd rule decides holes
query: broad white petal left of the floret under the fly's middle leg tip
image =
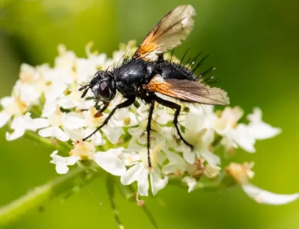
{"label": "broad white petal left of the floret under the fly's middle leg tip", "polygon": [[118,157],[122,152],[122,149],[123,148],[109,149],[105,152],[97,152],[95,154],[95,162],[108,173],[115,176],[121,176],[126,171],[125,164]]}

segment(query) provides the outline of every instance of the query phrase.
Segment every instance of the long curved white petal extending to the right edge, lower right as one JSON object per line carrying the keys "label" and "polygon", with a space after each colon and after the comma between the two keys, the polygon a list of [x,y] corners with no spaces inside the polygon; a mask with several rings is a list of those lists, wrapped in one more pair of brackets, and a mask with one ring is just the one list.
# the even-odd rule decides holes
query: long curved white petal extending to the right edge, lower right
{"label": "long curved white petal extending to the right edge, lower right", "polygon": [[299,193],[293,194],[276,194],[269,191],[263,190],[253,186],[251,183],[242,184],[243,191],[253,198],[258,203],[272,204],[272,205],[282,205],[285,203],[290,203],[299,198]]}

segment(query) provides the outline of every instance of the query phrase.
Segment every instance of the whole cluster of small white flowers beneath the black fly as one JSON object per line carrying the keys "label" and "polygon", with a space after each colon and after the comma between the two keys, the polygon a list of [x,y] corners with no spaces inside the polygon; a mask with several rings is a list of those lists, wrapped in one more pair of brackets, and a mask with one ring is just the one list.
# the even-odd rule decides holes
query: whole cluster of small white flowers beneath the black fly
{"label": "whole cluster of small white flowers beneath the black fly", "polygon": [[[157,105],[150,137],[151,168],[147,161],[145,133],[148,106],[142,101],[129,110],[116,112],[112,122],[87,142],[80,140],[93,132],[109,112],[95,117],[93,95],[83,99],[78,88],[88,83],[97,70],[120,65],[122,58],[134,48],[134,43],[130,42],[115,51],[112,58],[107,58],[105,54],[91,53],[88,45],[87,58],[78,58],[72,51],[59,46],[53,68],[48,64],[21,65],[20,78],[11,97],[1,99],[0,127],[9,124],[12,129],[6,133],[6,139],[14,140],[30,131],[51,138],[56,144],[78,141],[68,156],[59,156],[58,151],[51,154],[51,163],[56,164],[58,174],[67,173],[68,166],[78,161],[93,160],[110,174],[120,176],[123,185],[136,181],[140,196],[148,196],[149,189],[155,195],[174,176],[187,183],[192,191],[204,176],[215,180],[224,173],[241,183],[248,196],[260,203],[282,204],[298,198],[298,194],[273,194],[248,183],[253,176],[253,164],[231,163],[221,168],[221,159],[215,154],[217,148],[224,147],[226,156],[238,147],[253,153],[256,140],[280,133],[280,129],[263,122],[259,108],[248,115],[248,124],[242,124],[238,123],[243,116],[239,107],[214,112],[214,107],[209,105],[182,105],[184,115],[179,117],[179,122],[184,137],[194,145],[191,150],[174,132],[174,112]],[[115,97],[108,110],[120,100],[120,95]]]}

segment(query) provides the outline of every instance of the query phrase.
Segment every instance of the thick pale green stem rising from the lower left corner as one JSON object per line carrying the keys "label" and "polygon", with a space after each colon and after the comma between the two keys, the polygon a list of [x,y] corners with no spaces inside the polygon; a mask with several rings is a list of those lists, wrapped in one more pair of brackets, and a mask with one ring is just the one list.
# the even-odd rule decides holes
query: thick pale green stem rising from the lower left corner
{"label": "thick pale green stem rising from the lower left corner", "polygon": [[57,179],[33,188],[32,191],[26,193],[21,198],[9,203],[7,206],[0,208],[0,228],[4,225],[17,220],[22,215],[25,215],[28,211],[34,208],[39,208],[43,203],[61,195],[67,191],[75,191],[78,187],[91,181],[102,174],[102,169],[86,169],[84,167],[78,167],[69,171],[68,174],[59,176]]}

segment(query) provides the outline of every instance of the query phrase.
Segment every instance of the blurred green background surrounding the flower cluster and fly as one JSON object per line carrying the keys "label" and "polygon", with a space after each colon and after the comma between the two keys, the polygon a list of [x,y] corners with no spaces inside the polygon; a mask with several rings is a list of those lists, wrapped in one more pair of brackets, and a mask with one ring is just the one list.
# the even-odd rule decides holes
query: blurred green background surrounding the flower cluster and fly
{"label": "blurred green background surrounding the flower cluster and fly", "polygon": [[[10,95],[21,63],[53,64],[58,43],[85,56],[85,44],[94,41],[100,52],[111,54],[120,42],[142,41],[159,18],[179,4],[192,4],[197,16],[194,31],[176,55],[182,57],[187,48],[191,55],[210,53],[206,66],[216,66],[231,105],[241,105],[246,113],[261,107],[263,119],[283,129],[278,137],[258,142],[256,154],[239,150],[233,160],[256,162],[252,182],[257,186],[298,192],[298,1],[0,0],[1,97]],[[6,142],[5,132],[0,130],[0,206],[58,176],[48,162],[51,149],[26,139]],[[105,179],[96,179],[9,228],[117,228],[104,184]],[[116,199],[125,228],[153,228],[135,203],[118,193]],[[299,201],[258,205],[240,188],[188,194],[168,186],[157,198],[147,198],[146,205],[159,228],[299,228]]]}

